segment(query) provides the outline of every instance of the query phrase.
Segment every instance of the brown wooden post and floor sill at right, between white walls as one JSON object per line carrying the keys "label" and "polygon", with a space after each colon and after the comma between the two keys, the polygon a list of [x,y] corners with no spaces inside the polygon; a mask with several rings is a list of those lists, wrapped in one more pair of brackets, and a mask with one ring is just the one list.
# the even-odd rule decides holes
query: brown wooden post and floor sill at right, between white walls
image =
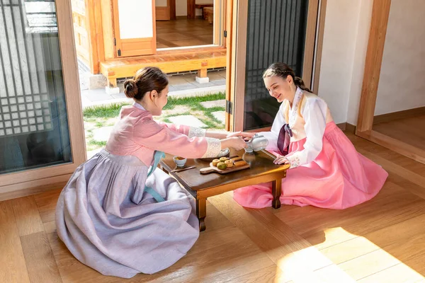
{"label": "brown wooden post and floor sill at right, between white walls", "polygon": [[385,35],[387,34],[388,17],[390,16],[390,6],[391,0],[373,1],[356,135],[412,158],[415,161],[425,163],[425,151],[423,149],[416,148],[415,146],[373,130],[373,117],[375,116],[375,105],[378,96],[378,85],[385,47]]}

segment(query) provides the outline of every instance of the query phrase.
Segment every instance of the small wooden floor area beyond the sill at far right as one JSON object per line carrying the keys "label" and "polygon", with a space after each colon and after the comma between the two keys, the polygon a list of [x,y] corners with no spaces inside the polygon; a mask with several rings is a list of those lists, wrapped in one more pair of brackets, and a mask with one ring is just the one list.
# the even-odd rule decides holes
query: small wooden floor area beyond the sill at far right
{"label": "small wooden floor area beyond the sill at far right", "polygon": [[380,122],[373,130],[425,150],[425,115]]}

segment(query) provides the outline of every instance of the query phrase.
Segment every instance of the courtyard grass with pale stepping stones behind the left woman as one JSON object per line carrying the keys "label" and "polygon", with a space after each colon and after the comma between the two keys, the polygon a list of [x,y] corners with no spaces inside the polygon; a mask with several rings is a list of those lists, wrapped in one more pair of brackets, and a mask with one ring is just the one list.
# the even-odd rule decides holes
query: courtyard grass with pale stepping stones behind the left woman
{"label": "courtyard grass with pale stepping stones behind the left woman", "polygon": [[[213,107],[204,108],[202,104],[205,101],[223,100],[225,99],[225,93],[214,93],[208,96],[194,96],[186,98],[174,98],[169,97],[168,103],[164,107],[163,115],[155,117],[155,120],[161,120],[162,122],[171,123],[170,117],[180,115],[193,115],[197,117],[201,122],[207,125],[208,129],[224,129],[225,125],[217,120],[212,112],[224,111],[224,107]],[[93,130],[101,127],[111,126],[111,121],[118,117],[121,107],[129,105],[128,103],[114,103],[111,105],[101,105],[86,108],[83,111],[84,123],[90,125],[91,129],[87,130],[86,144],[87,150],[99,149],[106,146],[106,141],[96,141],[93,138]],[[174,111],[169,113],[169,110],[174,110],[177,106],[184,106],[185,110]],[[187,110],[189,109],[189,111]],[[168,112],[168,113],[167,113]]]}

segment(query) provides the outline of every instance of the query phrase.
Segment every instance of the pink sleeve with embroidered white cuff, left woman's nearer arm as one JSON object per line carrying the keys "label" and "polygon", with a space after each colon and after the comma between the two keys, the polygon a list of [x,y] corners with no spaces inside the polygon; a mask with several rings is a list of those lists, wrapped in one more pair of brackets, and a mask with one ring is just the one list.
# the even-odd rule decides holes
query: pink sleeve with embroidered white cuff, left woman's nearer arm
{"label": "pink sleeve with embroidered white cuff, left woman's nearer arm", "polygon": [[180,130],[182,132],[189,131],[187,126],[168,127],[151,119],[141,119],[135,123],[133,139],[135,143],[149,149],[185,158],[208,158],[215,157],[220,153],[220,139],[188,137]]}

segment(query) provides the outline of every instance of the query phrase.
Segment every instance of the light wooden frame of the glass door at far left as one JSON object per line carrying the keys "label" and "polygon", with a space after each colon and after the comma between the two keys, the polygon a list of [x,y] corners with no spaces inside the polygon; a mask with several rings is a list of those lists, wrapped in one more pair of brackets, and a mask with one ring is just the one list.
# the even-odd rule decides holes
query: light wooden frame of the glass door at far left
{"label": "light wooden frame of the glass door at far left", "polygon": [[56,0],[56,14],[72,162],[0,175],[0,201],[63,187],[75,169],[86,160],[71,1]]}

